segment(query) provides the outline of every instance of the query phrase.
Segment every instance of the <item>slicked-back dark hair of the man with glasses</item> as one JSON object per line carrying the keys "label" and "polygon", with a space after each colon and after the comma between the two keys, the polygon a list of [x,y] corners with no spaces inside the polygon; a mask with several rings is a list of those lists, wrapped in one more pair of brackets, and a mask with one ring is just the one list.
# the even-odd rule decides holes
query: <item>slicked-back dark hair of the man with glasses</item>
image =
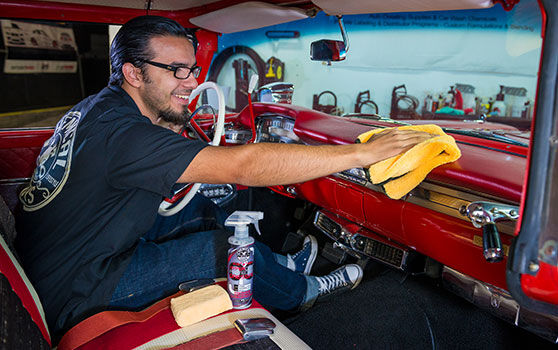
{"label": "slicked-back dark hair of the man with glasses", "polygon": [[116,33],[110,46],[110,85],[122,85],[122,66],[130,62],[142,71],[143,60],[151,60],[155,53],[149,48],[149,40],[156,36],[178,36],[192,42],[194,53],[198,40],[192,29],[186,29],[172,19],[160,16],[140,16],[126,22]]}

